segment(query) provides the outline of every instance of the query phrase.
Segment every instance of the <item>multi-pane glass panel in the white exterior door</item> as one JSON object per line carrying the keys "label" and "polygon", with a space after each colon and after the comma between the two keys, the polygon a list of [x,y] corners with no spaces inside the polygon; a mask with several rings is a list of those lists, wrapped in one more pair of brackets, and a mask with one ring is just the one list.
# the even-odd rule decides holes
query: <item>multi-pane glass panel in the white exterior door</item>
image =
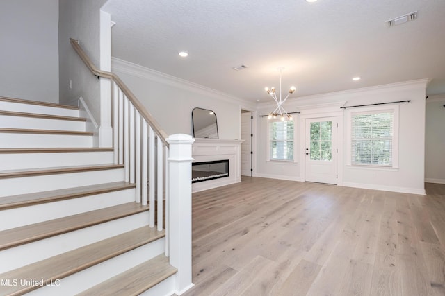
{"label": "multi-pane glass panel in the white exterior door", "polygon": [[332,160],[332,121],[312,122],[310,130],[311,160]]}

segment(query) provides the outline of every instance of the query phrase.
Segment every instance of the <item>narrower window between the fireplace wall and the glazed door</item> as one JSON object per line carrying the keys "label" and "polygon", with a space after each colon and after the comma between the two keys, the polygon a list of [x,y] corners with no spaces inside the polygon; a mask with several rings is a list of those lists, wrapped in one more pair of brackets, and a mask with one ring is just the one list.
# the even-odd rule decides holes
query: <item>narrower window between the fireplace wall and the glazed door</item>
{"label": "narrower window between the fireplace wall and the glazed door", "polygon": [[269,160],[293,160],[293,121],[270,121]]}

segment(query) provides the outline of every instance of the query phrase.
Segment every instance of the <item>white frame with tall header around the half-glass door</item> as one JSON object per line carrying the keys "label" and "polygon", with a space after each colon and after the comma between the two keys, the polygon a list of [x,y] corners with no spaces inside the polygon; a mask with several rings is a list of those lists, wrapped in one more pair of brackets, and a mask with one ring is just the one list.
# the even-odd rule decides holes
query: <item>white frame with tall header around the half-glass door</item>
{"label": "white frame with tall header around the half-glass door", "polygon": [[343,121],[344,110],[341,109],[346,104],[346,101],[337,103],[327,103],[321,105],[300,106],[300,150],[298,159],[300,159],[300,181],[306,182],[306,157],[305,157],[305,143],[306,143],[306,119],[320,119],[323,121],[325,117],[335,117],[339,127],[337,129],[337,186],[343,184],[343,154],[344,154],[344,138],[343,138]]}

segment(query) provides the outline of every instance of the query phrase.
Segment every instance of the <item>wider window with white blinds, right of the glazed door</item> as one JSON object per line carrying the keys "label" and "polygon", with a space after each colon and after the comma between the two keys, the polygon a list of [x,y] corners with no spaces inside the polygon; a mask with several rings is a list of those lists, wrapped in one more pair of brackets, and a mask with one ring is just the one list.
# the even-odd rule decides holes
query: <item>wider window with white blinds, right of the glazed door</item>
{"label": "wider window with white blinds, right of the glazed door", "polygon": [[353,165],[394,166],[394,110],[351,114]]}

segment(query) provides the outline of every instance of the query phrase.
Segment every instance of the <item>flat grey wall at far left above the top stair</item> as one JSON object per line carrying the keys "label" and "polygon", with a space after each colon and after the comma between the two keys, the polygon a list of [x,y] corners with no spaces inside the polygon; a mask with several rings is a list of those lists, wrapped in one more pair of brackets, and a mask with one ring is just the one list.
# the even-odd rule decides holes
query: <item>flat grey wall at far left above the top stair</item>
{"label": "flat grey wall at far left above the top stair", "polygon": [[58,103],[58,0],[1,0],[0,40],[0,96]]}

